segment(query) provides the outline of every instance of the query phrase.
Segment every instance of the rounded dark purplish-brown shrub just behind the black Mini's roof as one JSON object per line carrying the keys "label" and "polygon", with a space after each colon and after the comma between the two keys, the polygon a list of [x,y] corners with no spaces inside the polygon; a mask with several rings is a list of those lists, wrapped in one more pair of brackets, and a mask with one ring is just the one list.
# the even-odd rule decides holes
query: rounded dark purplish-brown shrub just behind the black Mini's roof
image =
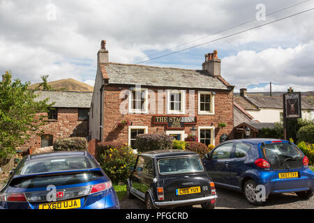
{"label": "rounded dark purplish-brown shrub just behind the black Mini's roof", "polygon": [[137,134],[135,148],[139,152],[172,149],[173,137],[162,134]]}

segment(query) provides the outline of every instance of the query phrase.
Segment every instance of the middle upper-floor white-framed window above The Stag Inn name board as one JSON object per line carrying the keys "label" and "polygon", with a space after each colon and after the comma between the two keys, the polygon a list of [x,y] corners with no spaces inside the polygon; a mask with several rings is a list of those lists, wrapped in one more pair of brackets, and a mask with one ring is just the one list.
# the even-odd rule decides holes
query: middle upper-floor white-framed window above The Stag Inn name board
{"label": "middle upper-floor white-framed window above The Stag Inn name board", "polygon": [[167,90],[167,114],[185,114],[186,91]]}

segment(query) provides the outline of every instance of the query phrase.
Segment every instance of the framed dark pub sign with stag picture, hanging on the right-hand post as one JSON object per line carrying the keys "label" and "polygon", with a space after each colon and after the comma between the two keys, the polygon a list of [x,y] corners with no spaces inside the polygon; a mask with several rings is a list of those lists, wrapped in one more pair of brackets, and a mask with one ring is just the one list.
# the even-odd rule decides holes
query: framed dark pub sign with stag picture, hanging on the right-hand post
{"label": "framed dark pub sign with stag picture, hanging on the right-hand post", "polygon": [[301,92],[283,94],[283,117],[301,118]]}

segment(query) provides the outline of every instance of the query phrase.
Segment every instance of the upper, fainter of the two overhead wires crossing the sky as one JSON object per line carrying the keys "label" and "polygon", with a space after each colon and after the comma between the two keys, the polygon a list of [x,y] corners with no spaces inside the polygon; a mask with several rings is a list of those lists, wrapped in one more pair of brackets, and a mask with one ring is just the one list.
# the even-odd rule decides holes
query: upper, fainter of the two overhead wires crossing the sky
{"label": "upper, fainter of the two overhead wires crossing the sky", "polygon": [[[280,9],[280,10],[276,10],[276,11],[274,11],[274,12],[272,12],[272,13],[269,13],[269,14],[265,15],[265,17],[267,17],[267,16],[269,16],[269,15],[274,15],[274,14],[276,14],[276,13],[279,13],[279,12],[281,12],[281,11],[283,11],[283,10],[287,10],[287,9],[292,8],[292,7],[294,7],[294,6],[299,6],[300,4],[305,3],[305,2],[307,2],[307,1],[311,1],[311,0],[301,1],[301,2],[299,2],[299,3],[296,3],[296,4],[292,5],[292,6],[287,6],[287,7],[285,7],[285,8]],[[172,47],[172,48],[170,48],[170,49],[165,49],[165,50],[163,50],[163,51],[161,51],[161,52],[156,52],[156,53],[154,53],[154,54],[150,54],[150,55],[148,55],[147,57],[154,56],[154,55],[157,55],[157,54],[161,54],[161,53],[163,53],[163,52],[167,52],[167,51],[170,51],[170,50],[172,50],[172,49],[177,49],[178,47],[182,47],[182,46],[184,46],[184,45],[188,45],[189,43],[194,43],[194,42],[196,42],[196,41],[198,41],[198,40],[202,40],[202,39],[204,39],[204,38],[209,38],[210,36],[214,36],[214,35],[216,35],[216,34],[223,33],[224,31],[227,31],[227,30],[230,30],[230,29],[234,29],[234,28],[237,28],[237,27],[239,27],[239,26],[243,26],[244,24],[248,24],[248,23],[250,23],[250,22],[255,22],[256,20],[257,20],[257,19],[255,18],[254,20],[248,20],[248,21],[246,21],[246,22],[242,22],[241,24],[237,24],[236,26],[232,26],[232,27],[229,27],[229,28],[220,30],[220,31],[218,31],[218,32],[216,32],[216,33],[211,33],[211,34],[209,34],[209,36],[203,36],[202,38],[198,38],[198,39],[196,39],[196,40],[192,40],[192,41],[190,41],[190,42],[186,42],[186,43],[183,43],[183,44],[181,44],[181,45],[177,45],[176,47]]]}

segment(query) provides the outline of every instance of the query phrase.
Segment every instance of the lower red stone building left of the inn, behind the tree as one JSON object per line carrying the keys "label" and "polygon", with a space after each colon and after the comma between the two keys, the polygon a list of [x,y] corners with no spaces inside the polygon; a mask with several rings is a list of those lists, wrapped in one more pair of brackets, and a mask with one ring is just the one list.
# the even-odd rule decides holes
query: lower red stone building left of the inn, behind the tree
{"label": "lower red stone building left of the inn, behind the tree", "polygon": [[[88,136],[88,114],[91,105],[91,92],[38,91],[36,100],[49,98],[54,102],[47,116],[47,123],[40,127],[38,134],[32,134],[23,146],[29,148],[52,146],[56,139]],[[43,130],[43,132],[41,132]]]}

